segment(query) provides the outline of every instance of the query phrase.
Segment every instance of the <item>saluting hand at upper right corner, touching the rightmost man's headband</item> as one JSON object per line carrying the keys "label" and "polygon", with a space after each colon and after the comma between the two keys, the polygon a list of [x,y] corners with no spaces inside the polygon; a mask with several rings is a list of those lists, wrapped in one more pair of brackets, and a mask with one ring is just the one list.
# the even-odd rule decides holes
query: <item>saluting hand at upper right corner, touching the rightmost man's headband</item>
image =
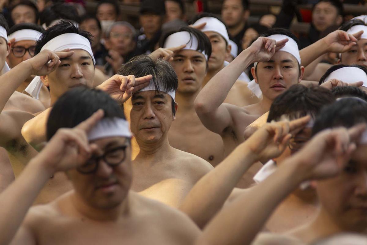
{"label": "saluting hand at upper right corner, touching the rightmost man's headband", "polygon": [[328,47],[328,52],[344,53],[357,44],[357,40],[360,39],[362,33],[363,30],[354,34],[348,34],[344,30],[335,30],[324,37],[323,40],[326,47]]}

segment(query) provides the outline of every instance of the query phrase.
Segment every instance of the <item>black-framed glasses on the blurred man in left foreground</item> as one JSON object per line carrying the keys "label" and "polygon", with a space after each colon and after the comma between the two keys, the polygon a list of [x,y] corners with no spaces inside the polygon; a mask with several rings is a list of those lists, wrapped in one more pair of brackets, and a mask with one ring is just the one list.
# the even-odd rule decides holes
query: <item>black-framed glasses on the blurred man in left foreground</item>
{"label": "black-framed glasses on the blurred man in left foreground", "polygon": [[127,145],[123,145],[120,147],[116,147],[105,151],[105,153],[101,156],[92,156],[86,164],[77,167],[79,173],[82,174],[91,174],[95,173],[98,169],[99,162],[103,160],[110,167],[116,167],[120,165],[126,157],[126,147]]}

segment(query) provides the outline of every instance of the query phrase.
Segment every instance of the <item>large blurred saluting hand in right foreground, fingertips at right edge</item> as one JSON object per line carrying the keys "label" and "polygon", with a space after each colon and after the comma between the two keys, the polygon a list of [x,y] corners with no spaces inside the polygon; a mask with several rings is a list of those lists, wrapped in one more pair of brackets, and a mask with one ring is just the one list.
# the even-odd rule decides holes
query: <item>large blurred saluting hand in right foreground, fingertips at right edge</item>
{"label": "large blurred saluting hand in right foreground, fingertips at right edge", "polygon": [[305,180],[333,177],[348,162],[364,130],[365,124],[350,129],[323,130],[293,155],[290,161],[297,162],[298,171]]}

